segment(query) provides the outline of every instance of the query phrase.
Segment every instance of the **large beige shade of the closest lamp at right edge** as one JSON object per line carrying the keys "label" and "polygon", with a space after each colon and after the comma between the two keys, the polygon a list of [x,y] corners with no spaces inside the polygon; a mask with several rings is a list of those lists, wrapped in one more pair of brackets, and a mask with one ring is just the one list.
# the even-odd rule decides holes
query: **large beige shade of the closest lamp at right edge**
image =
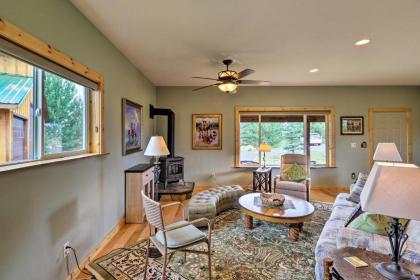
{"label": "large beige shade of the closest lamp at right edge", "polygon": [[360,203],[363,211],[420,221],[420,168],[414,164],[376,162]]}

